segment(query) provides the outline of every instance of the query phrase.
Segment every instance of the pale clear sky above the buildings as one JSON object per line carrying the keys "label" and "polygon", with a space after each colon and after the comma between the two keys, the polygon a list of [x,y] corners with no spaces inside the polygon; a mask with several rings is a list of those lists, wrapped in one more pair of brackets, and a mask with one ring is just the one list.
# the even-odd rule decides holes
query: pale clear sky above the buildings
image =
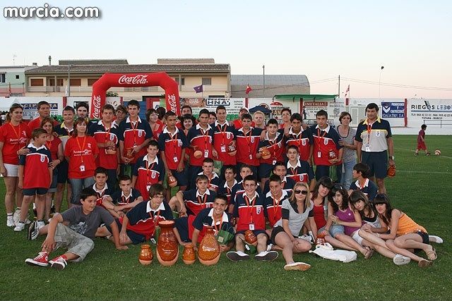
{"label": "pale clear sky above the buildings", "polygon": [[[97,6],[102,18],[3,17],[5,6],[45,3]],[[380,87],[382,98],[452,98],[451,1],[2,0],[0,8],[0,66],[13,55],[16,65],[40,66],[49,55],[213,58],[232,74],[262,74],[265,64],[266,74],[307,75],[311,94],[337,94],[340,75],[341,95],[350,85],[351,97],[378,97]]]}

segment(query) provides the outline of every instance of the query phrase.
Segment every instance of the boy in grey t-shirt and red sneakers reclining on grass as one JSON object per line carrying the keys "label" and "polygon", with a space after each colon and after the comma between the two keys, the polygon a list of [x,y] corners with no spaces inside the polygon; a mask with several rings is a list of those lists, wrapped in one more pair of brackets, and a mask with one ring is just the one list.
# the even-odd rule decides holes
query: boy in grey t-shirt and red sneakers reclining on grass
{"label": "boy in grey t-shirt and red sneakers reclining on grass", "polygon": [[[37,230],[30,229],[30,239],[37,235],[47,234],[42,242],[42,250],[35,258],[25,259],[31,266],[48,266],[64,269],[67,262],[81,262],[94,248],[93,238],[101,223],[112,228],[114,245],[118,250],[126,250],[127,246],[119,243],[119,230],[113,217],[102,207],[96,206],[97,195],[93,188],[85,188],[81,192],[81,206],[73,206],[61,214],[55,214],[47,226]],[[67,224],[68,226],[65,226]],[[31,226],[34,224],[32,223]],[[49,261],[49,253],[59,247],[67,247],[67,252]]]}

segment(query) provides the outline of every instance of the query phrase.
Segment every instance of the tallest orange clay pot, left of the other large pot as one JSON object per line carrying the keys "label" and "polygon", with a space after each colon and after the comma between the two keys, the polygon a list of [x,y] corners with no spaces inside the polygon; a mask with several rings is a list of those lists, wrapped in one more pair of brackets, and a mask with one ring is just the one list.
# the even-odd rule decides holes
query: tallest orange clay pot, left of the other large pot
{"label": "tallest orange clay pot, left of the other large pot", "polygon": [[179,245],[172,231],[174,221],[160,221],[160,235],[157,240],[157,259],[162,266],[172,266],[179,257]]}

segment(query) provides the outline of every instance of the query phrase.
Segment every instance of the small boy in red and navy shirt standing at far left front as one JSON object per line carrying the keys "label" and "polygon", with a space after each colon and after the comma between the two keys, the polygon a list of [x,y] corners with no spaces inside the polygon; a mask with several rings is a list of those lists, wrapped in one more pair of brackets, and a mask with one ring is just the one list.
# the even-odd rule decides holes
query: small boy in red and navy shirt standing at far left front
{"label": "small boy in red and navy shirt standing at far left front", "polygon": [[[18,188],[22,188],[23,201],[20,209],[20,220],[14,231],[25,228],[28,207],[35,199],[37,210],[37,227],[44,226],[45,195],[52,183],[53,168],[49,167],[52,154],[44,145],[47,142],[47,131],[36,128],[31,133],[32,141],[28,145],[30,152],[19,157]],[[39,175],[39,176],[37,176]]]}

